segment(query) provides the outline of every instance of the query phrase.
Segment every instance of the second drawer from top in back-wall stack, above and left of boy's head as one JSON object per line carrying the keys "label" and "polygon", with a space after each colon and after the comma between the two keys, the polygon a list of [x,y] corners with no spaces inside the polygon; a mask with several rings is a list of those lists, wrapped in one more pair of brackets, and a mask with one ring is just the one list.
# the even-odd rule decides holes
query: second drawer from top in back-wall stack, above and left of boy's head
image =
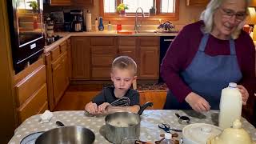
{"label": "second drawer from top in back-wall stack, above and left of boy's head", "polygon": [[91,54],[117,54],[116,46],[92,46]]}

